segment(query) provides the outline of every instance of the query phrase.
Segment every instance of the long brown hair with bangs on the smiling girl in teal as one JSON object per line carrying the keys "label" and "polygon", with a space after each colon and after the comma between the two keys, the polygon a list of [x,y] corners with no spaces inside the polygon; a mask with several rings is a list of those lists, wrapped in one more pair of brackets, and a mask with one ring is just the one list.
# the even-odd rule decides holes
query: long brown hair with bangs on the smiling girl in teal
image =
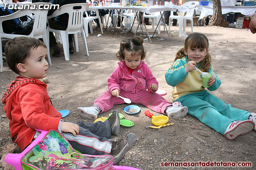
{"label": "long brown hair with bangs on the smiling girl in teal", "polygon": [[[182,57],[185,57],[186,54],[184,53],[184,49],[188,50],[188,47],[208,50],[209,41],[208,41],[207,37],[202,33],[192,33],[192,34],[188,35],[188,37],[185,39],[184,47],[181,48],[176,53],[176,57],[175,57],[174,61],[176,61],[177,59],[180,59]],[[205,72],[208,72],[210,66],[211,66],[211,56],[208,53],[202,60],[200,67]]]}

